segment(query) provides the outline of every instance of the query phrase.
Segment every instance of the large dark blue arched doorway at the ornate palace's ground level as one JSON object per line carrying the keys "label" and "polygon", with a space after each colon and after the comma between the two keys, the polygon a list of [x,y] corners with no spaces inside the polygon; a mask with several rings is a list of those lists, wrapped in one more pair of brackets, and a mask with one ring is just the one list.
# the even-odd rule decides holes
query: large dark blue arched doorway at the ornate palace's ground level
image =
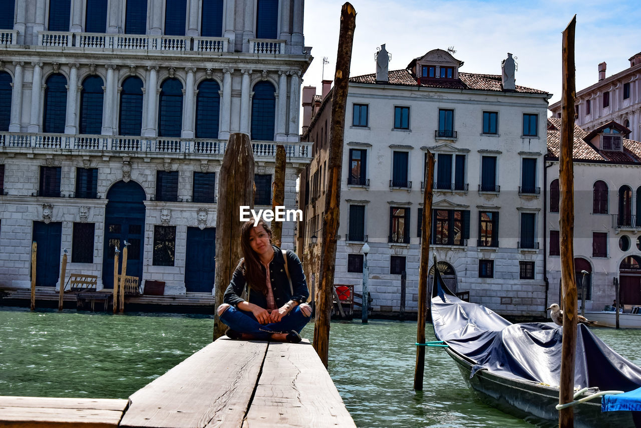
{"label": "large dark blue arched doorway at the ornate palace's ground level", "polygon": [[[142,280],[143,246],[145,234],[146,194],[136,182],[119,181],[107,192],[104,214],[103,286],[113,288],[113,255],[116,246],[122,252],[124,241],[130,243],[127,257],[127,275]],[[122,268],[122,257],[119,262]]]}

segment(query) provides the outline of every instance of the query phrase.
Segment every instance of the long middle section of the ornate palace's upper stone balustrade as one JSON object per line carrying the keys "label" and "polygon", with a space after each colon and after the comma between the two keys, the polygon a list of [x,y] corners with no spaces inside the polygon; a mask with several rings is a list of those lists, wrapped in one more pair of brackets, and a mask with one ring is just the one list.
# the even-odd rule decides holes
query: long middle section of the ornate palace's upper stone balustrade
{"label": "long middle section of the ornate palace's upper stone balustrade", "polygon": [[[0,33],[0,35],[3,33]],[[38,31],[38,45],[46,47],[222,53],[227,51],[228,42],[229,39],[226,37],[185,37],[140,34],[71,33],[69,31]]]}

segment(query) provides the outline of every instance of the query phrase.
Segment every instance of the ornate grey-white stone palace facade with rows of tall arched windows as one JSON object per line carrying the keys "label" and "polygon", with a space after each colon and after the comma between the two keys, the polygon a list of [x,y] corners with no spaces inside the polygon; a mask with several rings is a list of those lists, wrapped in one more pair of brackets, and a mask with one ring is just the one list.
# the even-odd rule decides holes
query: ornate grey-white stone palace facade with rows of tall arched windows
{"label": "ornate grey-white stone palace facade with rows of tall arched windows", "polygon": [[[271,206],[276,144],[285,205],[309,162],[299,140],[303,0],[8,0],[0,23],[0,286],[67,273],[112,287],[127,274],[165,294],[210,293],[219,169],[250,135],[256,205]],[[8,28],[10,27],[10,28]],[[224,197],[224,195],[222,195]],[[285,223],[283,246],[292,248]]]}

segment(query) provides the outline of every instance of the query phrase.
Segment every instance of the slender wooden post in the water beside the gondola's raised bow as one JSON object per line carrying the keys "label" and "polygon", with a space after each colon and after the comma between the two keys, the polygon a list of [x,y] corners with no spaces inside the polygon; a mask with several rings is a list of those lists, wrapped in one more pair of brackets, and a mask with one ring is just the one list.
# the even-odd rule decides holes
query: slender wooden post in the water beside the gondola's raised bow
{"label": "slender wooden post in the water beside the gondola's raised bow", "polygon": [[[416,327],[416,343],[425,343],[425,322],[428,318],[428,272],[429,272],[429,237],[432,232],[432,187],[434,183],[434,155],[428,151],[425,165],[425,193],[423,194],[423,221],[420,231],[420,266],[419,266],[419,320]],[[434,266],[436,270],[437,266]],[[425,371],[425,347],[416,347],[416,365],[414,367],[414,389],[423,390],[423,373]]]}

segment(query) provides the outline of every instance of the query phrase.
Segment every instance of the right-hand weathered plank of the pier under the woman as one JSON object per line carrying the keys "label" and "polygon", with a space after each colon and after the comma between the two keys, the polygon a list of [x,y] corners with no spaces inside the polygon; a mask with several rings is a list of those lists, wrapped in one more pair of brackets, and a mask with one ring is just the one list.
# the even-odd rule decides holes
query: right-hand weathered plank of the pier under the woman
{"label": "right-hand weathered plank of the pier under the woman", "polygon": [[309,341],[269,343],[243,426],[356,427]]}

